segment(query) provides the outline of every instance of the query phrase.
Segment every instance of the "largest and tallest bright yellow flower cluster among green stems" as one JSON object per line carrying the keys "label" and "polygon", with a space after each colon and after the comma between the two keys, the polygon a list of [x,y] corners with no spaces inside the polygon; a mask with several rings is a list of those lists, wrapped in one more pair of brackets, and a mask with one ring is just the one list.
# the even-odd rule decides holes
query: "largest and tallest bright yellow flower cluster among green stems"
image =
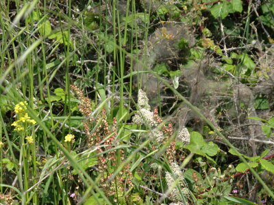
{"label": "largest and tallest bright yellow flower cluster among green stems", "polygon": [[15,126],[14,131],[24,131],[25,126],[28,124],[36,124],[35,120],[32,120],[29,115],[27,115],[26,110],[27,110],[27,102],[19,102],[17,105],[14,107],[15,113],[18,115],[19,120],[16,120],[15,122],[12,123],[12,126]]}

